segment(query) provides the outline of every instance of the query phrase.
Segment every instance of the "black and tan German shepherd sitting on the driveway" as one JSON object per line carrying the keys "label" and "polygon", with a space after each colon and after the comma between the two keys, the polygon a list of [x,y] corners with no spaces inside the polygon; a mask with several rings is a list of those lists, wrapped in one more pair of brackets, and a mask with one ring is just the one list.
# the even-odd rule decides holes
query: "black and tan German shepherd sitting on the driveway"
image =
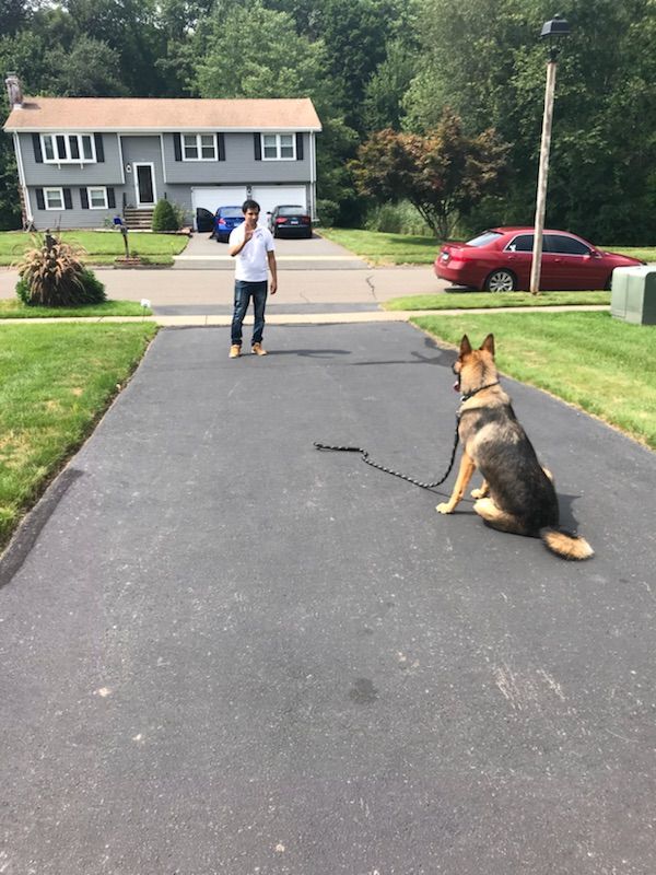
{"label": "black and tan German shepherd sitting on the driveway", "polygon": [[494,363],[494,335],[478,350],[467,335],[454,364],[454,388],[462,395],[458,434],[462,459],[454,491],[438,504],[438,513],[453,513],[475,468],[483,475],[473,510],[501,532],[540,537],[563,559],[588,559],[589,544],[559,527],[559,508],[551,474],[540,466],[536,451],[517,421],[511,399],[499,385]]}

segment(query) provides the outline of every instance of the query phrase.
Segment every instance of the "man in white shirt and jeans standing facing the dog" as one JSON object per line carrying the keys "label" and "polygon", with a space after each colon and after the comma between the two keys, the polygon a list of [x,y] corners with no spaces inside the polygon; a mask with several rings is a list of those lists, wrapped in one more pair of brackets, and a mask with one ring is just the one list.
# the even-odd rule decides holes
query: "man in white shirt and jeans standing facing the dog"
{"label": "man in white shirt and jeans standing facing the dog", "polygon": [[[244,222],[237,225],[229,240],[229,252],[235,258],[235,308],[231,328],[230,358],[238,359],[242,354],[242,323],[253,298],[255,310],[255,325],[253,326],[253,341],[250,351],[254,355],[266,355],[262,347],[265,330],[265,306],[267,293],[271,294],[278,289],[278,273],[276,267],[276,245],[269,229],[258,228],[259,203],[255,200],[245,200],[242,205]],[[268,285],[269,270],[271,271],[271,285]]]}

